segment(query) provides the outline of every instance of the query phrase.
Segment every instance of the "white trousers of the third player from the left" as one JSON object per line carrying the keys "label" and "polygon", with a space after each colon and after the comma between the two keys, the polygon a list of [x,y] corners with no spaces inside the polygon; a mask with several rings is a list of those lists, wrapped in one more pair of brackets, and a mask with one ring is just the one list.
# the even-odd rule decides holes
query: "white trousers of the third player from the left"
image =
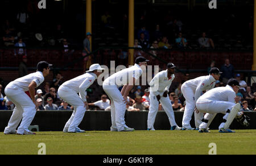
{"label": "white trousers of the third player from the left", "polygon": [[112,126],[110,127],[110,130],[122,131],[124,130],[124,127],[127,127],[125,124],[126,104],[123,101],[122,94],[116,85],[106,85],[103,83],[102,88],[111,100],[110,107]]}

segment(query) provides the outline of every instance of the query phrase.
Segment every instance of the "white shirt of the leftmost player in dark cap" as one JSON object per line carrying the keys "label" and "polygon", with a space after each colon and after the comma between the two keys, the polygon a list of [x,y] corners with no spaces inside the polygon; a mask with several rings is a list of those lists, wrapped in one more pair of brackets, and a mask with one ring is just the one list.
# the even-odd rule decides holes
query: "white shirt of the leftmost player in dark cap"
{"label": "white shirt of the leftmost player in dark cap", "polygon": [[28,85],[34,81],[36,87],[38,87],[44,81],[44,76],[42,72],[30,73],[27,76],[17,78],[14,81],[11,81],[7,86],[22,88],[24,92],[28,91]]}

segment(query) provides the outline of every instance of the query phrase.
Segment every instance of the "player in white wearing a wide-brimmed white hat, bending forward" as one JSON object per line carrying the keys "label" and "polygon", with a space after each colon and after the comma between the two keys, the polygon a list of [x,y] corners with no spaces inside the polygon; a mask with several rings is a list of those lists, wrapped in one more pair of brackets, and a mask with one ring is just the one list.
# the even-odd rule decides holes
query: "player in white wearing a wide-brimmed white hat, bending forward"
{"label": "player in white wearing a wide-brimmed white hat, bending forward", "polygon": [[102,70],[104,68],[101,68],[99,64],[93,64],[85,74],[64,82],[58,89],[60,98],[74,107],[73,114],[65,124],[63,132],[85,132],[78,126],[84,118],[85,111],[88,110],[86,89],[93,84]]}

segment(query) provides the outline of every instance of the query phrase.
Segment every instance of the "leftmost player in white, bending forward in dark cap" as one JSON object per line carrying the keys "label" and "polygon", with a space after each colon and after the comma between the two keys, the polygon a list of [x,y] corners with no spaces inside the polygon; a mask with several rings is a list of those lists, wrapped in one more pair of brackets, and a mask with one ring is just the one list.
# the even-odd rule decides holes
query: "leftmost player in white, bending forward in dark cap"
{"label": "leftmost player in white, bending forward in dark cap", "polygon": [[[35,88],[42,84],[44,77],[49,74],[49,67],[51,66],[52,64],[48,64],[46,61],[40,61],[35,73],[11,81],[6,86],[5,94],[15,104],[15,107],[8,125],[5,127],[4,134],[35,134],[35,132],[28,130],[28,126],[30,126],[38,109],[38,104],[35,101]],[[29,91],[31,98],[25,93],[26,91]],[[16,127],[18,127],[17,131],[15,130]]]}

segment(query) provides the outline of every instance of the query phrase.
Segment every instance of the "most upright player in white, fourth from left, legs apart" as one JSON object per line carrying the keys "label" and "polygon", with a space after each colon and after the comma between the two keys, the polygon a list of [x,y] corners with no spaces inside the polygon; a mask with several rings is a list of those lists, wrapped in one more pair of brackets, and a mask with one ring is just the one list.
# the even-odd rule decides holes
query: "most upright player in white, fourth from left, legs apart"
{"label": "most upright player in white, fourth from left, legs apart", "polygon": [[174,110],[170,98],[168,97],[168,91],[174,80],[175,65],[172,63],[167,64],[167,70],[163,70],[155,75],[150,84],[150,110],[147,117],[147,130],[155,130],[154,123],[155,117],[158,113],[159,101],[163,106],[164,111],[169,118],[171,124],[171,130],[180,130],[181,127],[177,126],[174,117]]}

